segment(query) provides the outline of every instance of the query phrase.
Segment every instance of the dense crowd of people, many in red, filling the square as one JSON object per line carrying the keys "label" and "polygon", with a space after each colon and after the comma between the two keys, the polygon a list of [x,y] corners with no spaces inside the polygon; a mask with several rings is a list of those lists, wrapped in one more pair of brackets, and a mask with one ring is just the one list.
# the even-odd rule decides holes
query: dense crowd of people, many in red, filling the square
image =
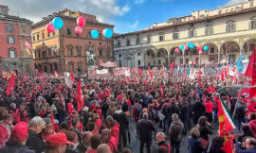
{"label": "dense crowd of people, many in red, filling the square", "polygon": [[[156,73],[155,73],[156,74]],[[42,80],[44,77],[44,81]],[[135,78],[136,77],[136,78]],[[78,111],[78,79],[82,82],[82,110]],[[215,93],[228,83],[227,76],[184,78],[147,72],[132,77],[83,76],[65,84],[64,76],[0,77],[0,153],[237,153],[256,152],[256,98]],[[218,128],[218,103],[224,100],[237,131],[213,139]],[[137,127],[131,135],[131,125]],[[222,129],[219,129],[222,130]],[[182,139],[189,133],[188,139]],[[134,138],[136,137],[136,138]],[[139,150],[130,147],[132,139]]]}

